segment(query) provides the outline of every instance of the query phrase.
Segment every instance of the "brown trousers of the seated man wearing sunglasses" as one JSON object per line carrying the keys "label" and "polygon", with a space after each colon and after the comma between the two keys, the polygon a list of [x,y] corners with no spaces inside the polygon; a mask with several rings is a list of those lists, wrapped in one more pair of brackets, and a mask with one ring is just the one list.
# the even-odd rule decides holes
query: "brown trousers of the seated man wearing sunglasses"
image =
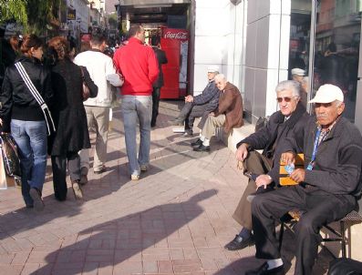
{"label": "brown trousers of the seated man wearing sunglasses", "polygon": [[[250,151],[247,158],[243,161],[243,172],[250,172],[256,175],[266,174],[272,168],[272,159],[266,158],[257,151]],[[243,191],[242,199],[233,212],[233,219],[245,229],[252,230],[252,204],[246,199],[250,194],[255,192],[256,183],[249,179],[248,185]]]}

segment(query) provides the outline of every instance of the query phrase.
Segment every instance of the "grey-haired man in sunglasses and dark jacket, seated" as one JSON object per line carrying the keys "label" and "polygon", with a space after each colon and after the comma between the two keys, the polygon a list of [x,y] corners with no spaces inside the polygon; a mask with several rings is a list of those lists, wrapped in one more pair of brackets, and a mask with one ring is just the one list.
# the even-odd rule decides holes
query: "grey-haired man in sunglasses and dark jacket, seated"
{"label": "grey-haired man in sunglasses and dark jacket, seated", "polygon": [[[295,80],[280,82],[275,88],[280,108],[269,119],[265,127],[240,141],[236,147],[236,158],[243,162],[244,175],[249,177],[233,219],[243,226],[241,232],[225,245],[227,250],[243,250],[253,244],[252,211],[250,199],[255,193],[272,190],[279,182],[279,158],[284,152],[284,139],[295,131],[297,148],[303,146],[305,121],[309,115],[300,102],[300,84]],[[260,154],[256,150],[263,150]],[[248,200],[249,199],[249,200]]]}

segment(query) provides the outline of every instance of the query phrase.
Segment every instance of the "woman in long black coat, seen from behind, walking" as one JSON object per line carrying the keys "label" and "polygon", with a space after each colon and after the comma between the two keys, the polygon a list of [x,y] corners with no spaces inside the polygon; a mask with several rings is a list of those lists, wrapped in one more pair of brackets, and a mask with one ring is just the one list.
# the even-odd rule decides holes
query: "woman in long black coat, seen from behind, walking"
{"label": "woman in long black coat, seen from behind, walking", "polygon": [[69,57],[67,39],[52,38],[49,48],[55,54],[52,67],[52,85],[57,105],[51,108],[57,131],[49,138],[48,151],[53,168],[53,185],[56,199],[67,198],[67,168],[76,199],[82,199],[80,188],[80,158],[78,151],[90,148],[87,115],[83,106],[82,83],[90,90],[90,97],[97,97],[98,87],[93,83],[85,67],[74,64]]}

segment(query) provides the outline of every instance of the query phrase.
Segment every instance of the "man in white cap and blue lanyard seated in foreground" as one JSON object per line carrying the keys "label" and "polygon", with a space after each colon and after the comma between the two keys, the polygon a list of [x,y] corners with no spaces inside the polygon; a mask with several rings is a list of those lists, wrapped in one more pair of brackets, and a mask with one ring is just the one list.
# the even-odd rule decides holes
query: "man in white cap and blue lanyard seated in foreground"
{"label": "man in white cap and blue lanyard seated in foreground", "polygon": [[[256,258],[266,261],[245,274],[285,273],[275,238],[275,220],[292,209],[303,212],[295,227],[295,274],[312,274],[321,241],[319,230],[357,207],[362,189],[362,137],[357,127],[342,117],[343,100],[339,87],[330,84],[319,87],[310,101],[315,104],[315,117],[305,126],[305,168],[297,168],[290,174],[298,184],[253,199]],[[287,150],[281,158],[292,164],[295,140],[286,141]]]}

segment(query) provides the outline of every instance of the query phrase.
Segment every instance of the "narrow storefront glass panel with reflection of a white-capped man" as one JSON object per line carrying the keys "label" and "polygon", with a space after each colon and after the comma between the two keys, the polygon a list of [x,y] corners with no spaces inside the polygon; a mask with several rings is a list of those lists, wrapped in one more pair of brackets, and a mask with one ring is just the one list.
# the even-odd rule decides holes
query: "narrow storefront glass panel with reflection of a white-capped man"
{"label": "narrow storefront glass panel with reflection of a white-capped man", "polygon": [[306,106],[309,90],[309,41],[311,29],[311,0],[292,1],[288,79],[301,83],[301,101]]}

